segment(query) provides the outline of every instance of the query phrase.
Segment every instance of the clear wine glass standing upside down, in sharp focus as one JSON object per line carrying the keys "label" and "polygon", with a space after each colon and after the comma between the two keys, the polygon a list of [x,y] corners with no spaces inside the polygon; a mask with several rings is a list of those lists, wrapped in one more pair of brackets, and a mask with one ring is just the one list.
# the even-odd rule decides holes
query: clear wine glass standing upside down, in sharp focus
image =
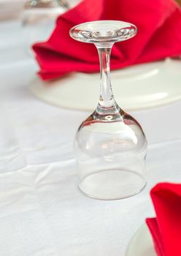
{"label": "clear wine glass standing upside down, in sharp focus", "polygon": [[99,103],[80,125],[74,145],[78,188],[88,197],[131,197],[146,184],[145,134],[138,121],[118,106],[109,75],[112,45],[134,37],[136,31],[133,24],[118,20],[82,23],[70,30],[73,39],[96,45],[101,69]]}

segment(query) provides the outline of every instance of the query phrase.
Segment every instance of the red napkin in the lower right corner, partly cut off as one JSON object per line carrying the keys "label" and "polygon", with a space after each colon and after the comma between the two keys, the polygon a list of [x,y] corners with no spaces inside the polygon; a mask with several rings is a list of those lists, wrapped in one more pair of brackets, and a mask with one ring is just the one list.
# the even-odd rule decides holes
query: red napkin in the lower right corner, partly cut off
{"label": "red napkin in the lower right corner, partly cut off", "polygon": [[156,218],[147,219],[158,256],[181,255],[181,184],[160,183],[150,192]]}

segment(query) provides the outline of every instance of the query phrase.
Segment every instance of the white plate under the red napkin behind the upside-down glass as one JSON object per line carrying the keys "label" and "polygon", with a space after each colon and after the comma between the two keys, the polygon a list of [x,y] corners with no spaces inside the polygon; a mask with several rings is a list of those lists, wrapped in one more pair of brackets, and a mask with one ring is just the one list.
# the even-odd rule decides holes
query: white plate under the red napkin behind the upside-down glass
{"label": "white plate under the red napkin behind the upside-down glass", "polygon": [[[166,59],[112,71],[112,89],[127,110],[165,105],[181,99],[181,60]],[[94,110],[99,98],[99,73],[73,73],[53,82],[31,81],[31,91],[53,105]]]}

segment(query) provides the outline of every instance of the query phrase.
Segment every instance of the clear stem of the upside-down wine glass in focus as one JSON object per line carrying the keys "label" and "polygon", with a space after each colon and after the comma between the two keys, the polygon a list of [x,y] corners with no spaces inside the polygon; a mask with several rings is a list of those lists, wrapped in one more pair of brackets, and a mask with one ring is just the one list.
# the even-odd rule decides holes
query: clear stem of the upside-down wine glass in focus
{"label": "clear stem of the upside-down wine glass in focus", "polygon": [[110,110],[116,107],[115,98],[112,94],[112,86],[110,80],[110,54],[112,45],[109,47],[97,47],[100,61],[101,86],[99,106],[100,110]]}

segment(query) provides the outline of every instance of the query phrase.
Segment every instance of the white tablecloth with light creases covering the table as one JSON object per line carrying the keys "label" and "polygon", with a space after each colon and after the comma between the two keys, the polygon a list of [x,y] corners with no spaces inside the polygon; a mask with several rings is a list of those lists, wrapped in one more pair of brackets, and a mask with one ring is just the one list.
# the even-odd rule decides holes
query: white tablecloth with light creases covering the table
{"label": "white tablecloth with light creases covering the table", "polygon": [[145,190],[126,200],[87,198],[76,188],[72,144],[89,113],[36,99],[28,83],[37,67],[20,24],[1,23],[0,34],[0,255],[123,256],[154,214],[150,188],[181,182],[181,102],[131,113],[149,143]]}

